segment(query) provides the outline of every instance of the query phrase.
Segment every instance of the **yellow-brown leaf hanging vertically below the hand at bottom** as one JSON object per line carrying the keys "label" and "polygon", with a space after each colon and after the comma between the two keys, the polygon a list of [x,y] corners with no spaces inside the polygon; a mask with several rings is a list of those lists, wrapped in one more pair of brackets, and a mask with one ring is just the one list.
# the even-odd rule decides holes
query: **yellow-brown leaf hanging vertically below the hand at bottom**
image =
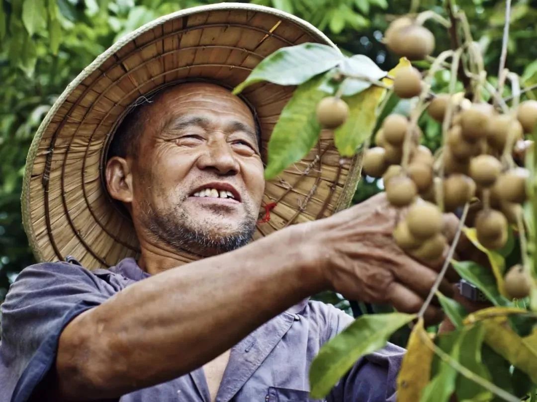
{"label": "yellow-brown leaf hanging vertically below the hand at bottom", "polygon": [[[427,343],[430,345],[427,346]],[[412,328],[397,377],[397,401],[416,402],[431,378],[432,342],[423,328],[423,318]]]}

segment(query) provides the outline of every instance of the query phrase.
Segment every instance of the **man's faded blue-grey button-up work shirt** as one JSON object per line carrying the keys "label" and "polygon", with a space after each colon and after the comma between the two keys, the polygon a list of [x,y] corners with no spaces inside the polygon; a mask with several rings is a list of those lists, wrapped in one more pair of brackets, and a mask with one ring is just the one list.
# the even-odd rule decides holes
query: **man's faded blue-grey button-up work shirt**
{"label": "man's faded blue-grey button-up work shirt", "polygon": [[[67,262],[24,269],[2,304],[0,402],[42,400],[40,390],[54,365],[63,328],[83,311],[148,276],[131,258],[95,271]],[[274,317],[231,349],[216,401],[308,401],[311,361],[323,343],[351,321],[332,305],[307,300]],[[395,401],[403,353],[404,349],[388,344],[360,359],[326,400]],[[119,401],[210,402],[210,397],[199,368]]]}

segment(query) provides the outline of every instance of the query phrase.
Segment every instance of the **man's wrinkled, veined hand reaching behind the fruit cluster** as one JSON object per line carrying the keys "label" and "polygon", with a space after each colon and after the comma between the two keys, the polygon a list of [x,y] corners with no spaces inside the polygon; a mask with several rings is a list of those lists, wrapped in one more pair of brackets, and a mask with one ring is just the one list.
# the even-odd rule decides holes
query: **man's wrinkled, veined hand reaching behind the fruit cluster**
{"label": "man's wrinkled, veined hand reaching behind the fruit cluster", "polygon": [[[351,299],[389,303],[402,312],[419,311],[444,259],[425,265],[397,246],[392,232],[402,214],[381,193],[317,222],[321,227],[316,230],[322,233],[324,274],[333,289]],[[445,222],[445,234],[451,240],[458,220],[450,214]],[[457,279],[453,271],[449,272],[439,290],[447,296],[453,295],[449,282]],[[442,312],[430,305],[424,318],[439,321]]]}

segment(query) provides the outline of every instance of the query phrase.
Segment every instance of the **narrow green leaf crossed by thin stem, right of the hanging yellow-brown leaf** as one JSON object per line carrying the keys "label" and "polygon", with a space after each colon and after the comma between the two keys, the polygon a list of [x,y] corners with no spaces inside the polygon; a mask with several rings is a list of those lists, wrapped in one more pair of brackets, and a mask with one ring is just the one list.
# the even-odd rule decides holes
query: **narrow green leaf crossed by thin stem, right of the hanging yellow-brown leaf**
{"label": "narrow green leaf crossed by thin stem, right of the hanging yellow-brown leaf", "polygon": [[[460,363],[478,376],[490,381],[490,372],[483,365],[481,357],[484,335],[485,331],[481,325],[474,325],[468,329],[460,345]],[[481,401],[492,398],[490,391],[465,376],[458,376],[455,390],[460,401],[467,399]]]}

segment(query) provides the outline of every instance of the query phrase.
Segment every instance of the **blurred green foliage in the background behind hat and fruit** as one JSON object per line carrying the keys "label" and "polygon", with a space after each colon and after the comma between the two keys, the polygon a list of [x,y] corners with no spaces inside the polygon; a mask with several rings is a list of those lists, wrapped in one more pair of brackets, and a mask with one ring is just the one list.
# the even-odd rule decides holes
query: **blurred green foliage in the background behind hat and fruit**
{"label": "blurred green foliage in the background behind hat and fruit", "polygon": [[[163,14],[195,5],[194,0],[0,0],[0,302],[17,273],[34,262],[21,224],[20,191],[26,152],[39,123],[67,84],[122,35]],[[382,32],[410,1],[387,0],[254,0],[296,14],[323,30],[344,51],[365,54],[384,70],[397,58],[387,52]],[[445,15],[441,1],[420,2],[419,11]],[[480,43],[491,81],[497,75],[505,2],[459,0]],[[523,85],[537,83],[537,0],[513,1],[507,67]],[[449,48],[447,32],[428,21],[437,38],[435,53]],[[446,87],[449,75],[435,77],[434,88]],[[535,98],[537,91],[528,92]],[[408,108],[407,101],[397,105]],[[439,146],[438,124],[420,120],[424,143]],[[377,180],[361,180],[354,201],[382,188]],[[349,309],[340,295],[325,301]]]}

